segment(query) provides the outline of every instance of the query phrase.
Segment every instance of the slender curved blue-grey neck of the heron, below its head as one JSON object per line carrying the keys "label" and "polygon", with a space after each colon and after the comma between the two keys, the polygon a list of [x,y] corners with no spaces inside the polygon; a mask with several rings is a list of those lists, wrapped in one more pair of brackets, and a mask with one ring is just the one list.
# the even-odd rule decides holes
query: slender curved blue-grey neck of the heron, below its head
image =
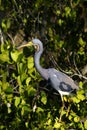
{"label": "slender curved blue-grey neck of the heron, below its head", "polygon": [[37,71],[39,72],[39,74],[46,80],[48,80],[48,70],[44,69],[43,67],[41,67],[40,65],[40,57],[41,57],[42,52],[36,52],[35,56],[34,56],[34,61],[35,61],[35,67],[37,69]]}

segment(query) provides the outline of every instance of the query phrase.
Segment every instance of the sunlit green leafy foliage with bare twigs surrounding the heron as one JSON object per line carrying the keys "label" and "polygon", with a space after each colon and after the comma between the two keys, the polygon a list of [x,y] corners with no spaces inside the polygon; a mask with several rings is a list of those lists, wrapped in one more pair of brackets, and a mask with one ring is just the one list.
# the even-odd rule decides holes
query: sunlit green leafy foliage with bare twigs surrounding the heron
{"label": "sunlit green leafy foliage with bare twigs surrounding the heron", "polygon": [[[0,4],[0,130],[87,129],[87,16],[81,12],[87,2],[1,0]],[[81,88],[64,97],[61,122],[61,98],[36,71],[33,48],[16,47],[32,37],[44,43],[41,64],[68,72]]]}

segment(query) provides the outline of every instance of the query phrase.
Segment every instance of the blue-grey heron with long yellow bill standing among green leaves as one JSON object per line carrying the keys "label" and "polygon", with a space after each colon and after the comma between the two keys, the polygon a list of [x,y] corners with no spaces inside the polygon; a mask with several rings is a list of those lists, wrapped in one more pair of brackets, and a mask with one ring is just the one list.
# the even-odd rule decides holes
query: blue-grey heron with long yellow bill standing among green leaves
{"label": "blue-grey heron with long yellow bill standing among green leaves", "polygon": [[63,95],[70,95],[79,89],[79,87],[74,83],[73,79],[69,76],[60,72],[54,68],[44,69],[40,65],[40,57],[43,52],[43,43],[39,39],[33,39],[31,42],[21,45],[21,47],[33,45],[36,49],[34,55],[35,67],[39,74],[47,81],[50,81],[52,87],[59,92],[61,99],[63,101]]}

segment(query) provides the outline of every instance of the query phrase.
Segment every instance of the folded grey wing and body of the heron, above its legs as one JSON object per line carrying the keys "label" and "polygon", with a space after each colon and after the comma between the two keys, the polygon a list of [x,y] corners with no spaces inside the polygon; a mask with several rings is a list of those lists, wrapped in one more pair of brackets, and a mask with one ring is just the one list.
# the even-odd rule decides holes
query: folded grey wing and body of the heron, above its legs
{"label": "folded grey wing and body of the heron, above its legs", "polygon": [[57,91],[62,91],[68,94],[78,89],[78,86],[69,76],[60,71],[57,71],[56,69],[50,69],[49,75],[52,86]]}

